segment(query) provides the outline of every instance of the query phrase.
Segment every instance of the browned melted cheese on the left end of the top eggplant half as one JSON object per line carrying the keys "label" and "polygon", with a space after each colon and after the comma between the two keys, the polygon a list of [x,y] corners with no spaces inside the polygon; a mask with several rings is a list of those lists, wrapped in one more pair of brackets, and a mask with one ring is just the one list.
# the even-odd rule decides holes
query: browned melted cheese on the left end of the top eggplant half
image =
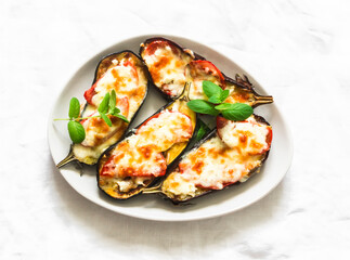
{"label": "browned melted cheese on the left end of the top eggplant half", "polygon": [[169,46],[158,48],[152,55],[144,56],[154,83],[167,94],[178,96],[186,82],[185,68],[190,55],[177,55]]}

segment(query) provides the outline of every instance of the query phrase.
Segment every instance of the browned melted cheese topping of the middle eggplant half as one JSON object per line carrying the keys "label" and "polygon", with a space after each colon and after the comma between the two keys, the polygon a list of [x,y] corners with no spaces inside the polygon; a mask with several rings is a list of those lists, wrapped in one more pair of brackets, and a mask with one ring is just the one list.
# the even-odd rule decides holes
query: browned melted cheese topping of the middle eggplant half
{"label": "browned melted cheese topping of the middle eggplant half", "polygon": [[161,152],[191,136],[192,123],[187,116],[164,110],[114,148],[101,174],[113,178],[163,176],[167,164]]}

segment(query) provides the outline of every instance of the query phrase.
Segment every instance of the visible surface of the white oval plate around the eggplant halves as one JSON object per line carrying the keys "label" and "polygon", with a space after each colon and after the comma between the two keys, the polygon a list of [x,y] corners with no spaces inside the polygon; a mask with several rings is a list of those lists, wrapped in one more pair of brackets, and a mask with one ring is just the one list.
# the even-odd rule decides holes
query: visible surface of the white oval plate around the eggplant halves
{"label": "visible surface of the white oval plate around the eggplant halves", "polygon": [[[74,74],[57,98],[49,118],[48,140],[55,164],[68,154],[70,140],[67,133],[66,121],[53,122],[53,118],[66,117],[69,100],[73,96],[77,96],[83,102],[82,94],[90,88],[95,67],[101,57],[124,50],[139,53],[140,43],[151,37],[155,37],[155,35],[139,36],[118,42],[98,53]],[[229,77],[233,77],[236,73],[247,75],[258,93],[273,95],[273,93],[264,91],[237,64],[211,48],[181,37],[160,37],[173,40],[180,46],[190,48],[205,56]],[[132,125],[137,126],[164,104],[166,104],[164,99],[151,88],[142,110]],[[74,164],[70,164],[61,168],[60,172],[72,187],[86,198],[104,208],[131,217],[158,221],[186,221],[230,213],[251,205],[271,192],[282,181],[291,162],[291,135],[276,105],[260,106],[255,109],[255,113],[263,116],[273,127],[272,148],[261,172],[242,185],[194,199],[192,202],[193,205],[174,207],[170,202],[166,202],[155,194],[141,195],[128,200],[118,202],[102,194],[98,188],[94,167],[85,166],[83,174],[80,176],[80,170]]]}

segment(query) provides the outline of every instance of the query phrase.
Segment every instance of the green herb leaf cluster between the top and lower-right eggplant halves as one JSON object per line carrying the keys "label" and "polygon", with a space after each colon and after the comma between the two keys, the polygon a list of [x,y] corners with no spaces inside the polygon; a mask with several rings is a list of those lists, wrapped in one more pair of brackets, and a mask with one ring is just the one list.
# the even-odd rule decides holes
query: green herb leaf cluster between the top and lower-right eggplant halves
{"label": "green herb leaf cluster between the top and lower-right eggplant halves", "polygon": [[229,120],[242,121],[247,119],[252,114],[251,106],[244,103],[223,103],[230,95],[230,90],[223,90],[218,84],[204,80],[203,92],[208,96],[208,101],[205,100],[192,100],[187,103],[187,106],[200,114],[207,114],[211,116],[218,116],[221,114]]}

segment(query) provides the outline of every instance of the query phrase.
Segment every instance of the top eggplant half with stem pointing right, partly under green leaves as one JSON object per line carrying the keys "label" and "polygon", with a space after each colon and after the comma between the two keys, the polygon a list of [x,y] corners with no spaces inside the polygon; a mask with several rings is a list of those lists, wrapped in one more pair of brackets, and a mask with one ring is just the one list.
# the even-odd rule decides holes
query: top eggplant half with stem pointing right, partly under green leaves
{"label": "top eggplant half with stem pointing right, partly under green leaves", "polygon": [[207,100],[203,93],[203,80],[230,90],[226,103],[241,102],[254,107],[272,103],[270,95],[259,95],[248,78],[236,75],[232,79],[222,74],[211,62],[190,49],[184,49],[165,38],[151,38],[141,43],[140,55],[146,64],[153,84],[167,98],[176,99],[184,82],[192,82],[190,100]]}

